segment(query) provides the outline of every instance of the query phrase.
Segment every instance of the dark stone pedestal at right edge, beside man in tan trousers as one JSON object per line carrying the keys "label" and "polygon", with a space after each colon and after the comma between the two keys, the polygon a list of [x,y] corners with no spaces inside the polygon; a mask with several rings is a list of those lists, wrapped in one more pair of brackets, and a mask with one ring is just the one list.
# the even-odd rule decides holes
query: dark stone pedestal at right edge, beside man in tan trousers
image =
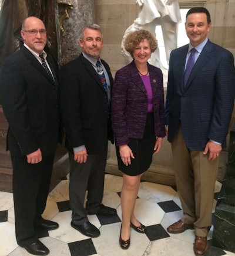
{"label": "dark stone pedestal at right edge, beside man in tan trousers", "polygon": [[230,132],[228,166],[217,201],[212,243],[235,252],[235,122]]}

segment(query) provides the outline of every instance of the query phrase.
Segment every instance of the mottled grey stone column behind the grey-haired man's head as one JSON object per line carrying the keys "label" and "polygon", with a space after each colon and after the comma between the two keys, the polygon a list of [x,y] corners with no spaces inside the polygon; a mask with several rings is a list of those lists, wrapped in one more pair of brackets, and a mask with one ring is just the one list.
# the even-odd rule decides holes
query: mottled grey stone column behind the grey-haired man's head
{"label": "mottled grey stone column behind the grey-haired man's head", "polygon": [[63,27],[59,27],[59,65],[63,65],[81,52],[79,35],[86,24],[95,22],[95,0],[62,0],[58,5]]}

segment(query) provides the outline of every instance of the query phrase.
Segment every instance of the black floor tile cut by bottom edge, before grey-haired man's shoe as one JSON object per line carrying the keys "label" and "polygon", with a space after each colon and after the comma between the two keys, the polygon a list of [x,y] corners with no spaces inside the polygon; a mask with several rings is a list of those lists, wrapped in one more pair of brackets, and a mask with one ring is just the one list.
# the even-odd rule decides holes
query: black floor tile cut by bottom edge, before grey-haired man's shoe
{"label": "black floor tile cut by bottom edge, before grey-haired man's shoe", "polygon": [[97,253],[92,239],[70,242],[68,245],[71,256],[88,256]]}

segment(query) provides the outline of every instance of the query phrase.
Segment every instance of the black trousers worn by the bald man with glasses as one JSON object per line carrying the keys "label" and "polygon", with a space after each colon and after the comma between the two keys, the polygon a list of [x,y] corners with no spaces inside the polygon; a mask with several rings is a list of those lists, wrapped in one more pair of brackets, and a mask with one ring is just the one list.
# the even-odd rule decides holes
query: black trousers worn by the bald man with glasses
{"label": "black trousers worn by the bald man with glasses", "polygon": [[11,156],[12,188],[15,208],[15,234],[19,245],[35,241],[35,223],[46,206],[54,155],[42,156],[42,161],[31,164],[26,156]]}

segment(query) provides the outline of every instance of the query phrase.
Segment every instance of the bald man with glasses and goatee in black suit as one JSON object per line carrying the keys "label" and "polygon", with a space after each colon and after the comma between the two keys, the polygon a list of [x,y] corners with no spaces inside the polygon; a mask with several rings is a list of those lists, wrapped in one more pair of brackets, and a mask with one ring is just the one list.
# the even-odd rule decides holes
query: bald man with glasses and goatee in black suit
{"label": "bald man with glasses and goatee in black suit", "polygon": [[9,124],[16,241],[31,254],[46,255],[49,250],[38,240],[37,229],[59,227],[41,216],[59,139],[58,82],[55,63],[43,50],[46,29],[41,19],[26,18],[21,36],[24,46],[4,61],[0,76],[1,103]]}

